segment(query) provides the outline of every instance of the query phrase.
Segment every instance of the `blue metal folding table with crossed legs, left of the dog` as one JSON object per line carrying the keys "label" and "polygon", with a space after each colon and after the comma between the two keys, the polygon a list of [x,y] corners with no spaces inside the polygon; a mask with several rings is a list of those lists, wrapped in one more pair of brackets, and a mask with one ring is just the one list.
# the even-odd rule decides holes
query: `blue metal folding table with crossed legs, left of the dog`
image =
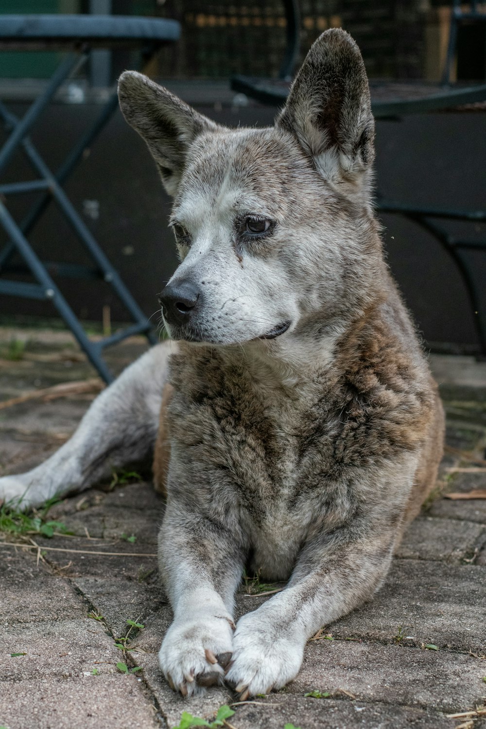
{"label": "blue metal folding table with crossed legs, left of the dog", "polygon": [[[0,16],[0,50],[68,50],[65,58],[55,70],[47,87],[34,101],[22,120],[7,110],[0,102],[0,117],[9,136],[0,150],[0,174],[19,147],[28,158],[39,178],[28,182],[0,184],[0,225],[7,231],[9,241],[0,251],[0,276],[3,273],[30,273],[35,284],[0,278],[0,295],[50,300],[60,316],[73,332],[88,359],[107,383],[113,380],[103,360],[103,349],[137,333],[143,333],[151,344],[156,343],[152,327],[138,307],[93,234],[85,225],[73,203],[63,190],[63,183],[90,147],[111,115],[117,109],[117,93],[113,92],[104,104],[100,114],[85,135],[71,150],[58,171],[53,173],[44,162],[29,138],[40,114],[52,100],[60,85],[73,75],[87,61],[93,48],[136,47],[141,49],[145,61],[154,55],[162,44],[179,39],[180,27],[175,20],[145,17],[124,17],[109,15],[3,15]],[[44,195],[26,217],[17,223],[4,204],[7,195],[16,195],[35,190]],[[50,205],[58,204],[63,216],[71,224],[74,233],[93,259],[93,267],[74,263],[47,262],[40,260],[29,243],[27,236]],[[9,262],[13,254],[23,259],[22,266]],[[52,275],[66,278],[100,279],[112,286],[127,308],[134,324],[125,330],[91,341],[79,323],[76,314],[68,305]]]}

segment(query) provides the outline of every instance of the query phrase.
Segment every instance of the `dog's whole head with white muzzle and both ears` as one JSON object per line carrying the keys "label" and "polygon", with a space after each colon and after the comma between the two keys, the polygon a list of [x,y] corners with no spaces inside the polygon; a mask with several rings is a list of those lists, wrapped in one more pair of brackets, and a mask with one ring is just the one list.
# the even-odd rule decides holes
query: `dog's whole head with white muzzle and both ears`
{"label": "dog's whole head with white muzzle and both ears", "polygon": [[339,332],[369,305],[374,121],[345,31],[315,41],[273,128],[223,128],[134,71],[119,102],[174,198],[181,265],[160,297],[173,338],[268,346]]}

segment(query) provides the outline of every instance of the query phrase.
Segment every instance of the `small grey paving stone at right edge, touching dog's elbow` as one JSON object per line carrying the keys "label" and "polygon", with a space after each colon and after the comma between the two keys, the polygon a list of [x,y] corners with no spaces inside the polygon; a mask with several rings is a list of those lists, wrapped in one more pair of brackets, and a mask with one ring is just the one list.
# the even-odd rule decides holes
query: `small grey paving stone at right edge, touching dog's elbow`
{"label": "small grey paving stone at right edge, touching dog's elbow", "polygon": [[485,531],[479,523],[418,517],[408,526],[396,556],[460,562],[482,544]]}

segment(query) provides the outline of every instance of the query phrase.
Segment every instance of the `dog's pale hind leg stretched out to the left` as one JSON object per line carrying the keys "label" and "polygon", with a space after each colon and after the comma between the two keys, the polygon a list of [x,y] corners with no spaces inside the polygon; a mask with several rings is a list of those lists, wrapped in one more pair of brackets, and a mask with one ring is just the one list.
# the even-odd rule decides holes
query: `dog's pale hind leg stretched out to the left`
{"label": "dog's pale hind leg stretched out to the left", "polygon": [[52,496],[82,491],[111,469],[153,451],[168,355],[173,345],[150,349],[104,390],[74,435],[50,459],[19,475],[0,478],[0,501],[26,509]]}

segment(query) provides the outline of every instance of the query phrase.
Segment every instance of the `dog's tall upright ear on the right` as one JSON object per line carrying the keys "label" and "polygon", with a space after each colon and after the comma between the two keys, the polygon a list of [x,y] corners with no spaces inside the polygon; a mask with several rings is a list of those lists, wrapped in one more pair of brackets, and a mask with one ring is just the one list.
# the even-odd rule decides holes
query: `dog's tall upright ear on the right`
{"label": "dog's tall upright ear on the right", "polygon": [[346,31],[333,28],[314,42],[276,125],[297,136],[325,179],[355,190],[367,179],[375,122],[363,58]]}

